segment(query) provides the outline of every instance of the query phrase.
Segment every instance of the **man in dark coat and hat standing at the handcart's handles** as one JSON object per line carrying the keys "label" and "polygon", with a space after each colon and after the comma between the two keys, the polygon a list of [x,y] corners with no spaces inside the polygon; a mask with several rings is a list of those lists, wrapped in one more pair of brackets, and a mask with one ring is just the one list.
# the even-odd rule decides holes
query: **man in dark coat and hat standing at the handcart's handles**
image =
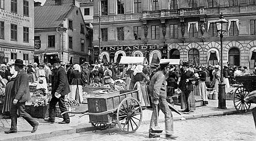
{"label": "man in dark coat and hat standing at the handcart's handles", "polygon": [[[67,108],[65,106],[65,95],[68,95],[70,91],[68,78],[66,71],[60,65],[60,59],[54,58],[52,65],[55,68],[52,74],[52,99],[49,101],[49,118],[44,118],[44,121],[54,123],[56,116],[56,104],[59,102],[59,107],[61,113],[66,112]],[[68,113],[63,114],[63,121],[60,124],[69,123],[70,119]]]}

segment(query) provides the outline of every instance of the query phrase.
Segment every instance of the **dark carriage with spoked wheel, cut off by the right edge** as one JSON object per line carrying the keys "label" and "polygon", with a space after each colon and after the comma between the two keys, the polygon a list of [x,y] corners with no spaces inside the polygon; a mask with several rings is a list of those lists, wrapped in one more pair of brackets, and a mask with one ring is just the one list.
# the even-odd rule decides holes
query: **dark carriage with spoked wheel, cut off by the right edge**
{"label": "dark carriage with spoked wheel, cut off by the right edge", "polygon": [[251,104],[245,102],[245,97],[256,90],[256,75],[236,76],[236,82],[243,86],[238,87],[234,92],[234,107],[239,113],[245,113],[250,109]]}

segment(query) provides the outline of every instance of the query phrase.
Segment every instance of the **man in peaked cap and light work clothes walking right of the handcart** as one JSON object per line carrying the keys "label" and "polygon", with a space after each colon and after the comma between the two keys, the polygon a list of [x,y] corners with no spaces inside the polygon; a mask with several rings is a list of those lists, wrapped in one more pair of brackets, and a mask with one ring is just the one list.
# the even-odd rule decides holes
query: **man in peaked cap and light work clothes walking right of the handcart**
{"label": "man in peaked cap and light work clothes walking right of the handcart", "polygon": [[155,134],[155,127],[158,126],[158,113],[159,109],[162,110],[165,117],[165,124],[166,124],[166,138],[168,139],[175,139],[177,136],[174,135],[174,118],[172,117],[171,110],[167,104],[166,96],[167,96],[167,89],[166,89],[166,76],[170,71],[170,67],[168,67],[169,62],[160,63],[160,70],[152,76],[150,82],[150,96],[153,105],[153,112],[151,116],[150,122],[150,130],[149,130],[149,138],[159,138],[160,135]]}

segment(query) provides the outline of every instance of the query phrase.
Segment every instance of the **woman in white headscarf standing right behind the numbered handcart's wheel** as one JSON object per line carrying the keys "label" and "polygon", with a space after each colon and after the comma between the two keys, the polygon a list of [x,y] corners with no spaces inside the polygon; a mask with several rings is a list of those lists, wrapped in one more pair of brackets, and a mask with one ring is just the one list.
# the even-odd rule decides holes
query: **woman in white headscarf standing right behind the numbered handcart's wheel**
{"label": "woman in white headscarf standing right behind the numbered handcart's wheel", "polygon": [[139,90],[139,100],[141,101],[142,106],[150,106],[150,99],[148,97],[146,82],[149,81],[148,76],[143,72],[143,66],[138,65],[134,72],[134,80],[135,80],[135,89]]}

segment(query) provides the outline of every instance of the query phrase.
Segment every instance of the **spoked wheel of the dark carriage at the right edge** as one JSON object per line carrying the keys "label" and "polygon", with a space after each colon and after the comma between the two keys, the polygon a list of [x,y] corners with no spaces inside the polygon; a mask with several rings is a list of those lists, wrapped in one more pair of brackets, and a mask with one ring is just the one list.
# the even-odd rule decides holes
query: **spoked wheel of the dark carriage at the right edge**
{"label": "spoked wheel of the dark carriage at the right edge", "polygon": [[243,86],[240,86],[236,89],[234,92],[234,107],[236,108],[237,112],[239,113],[245,113],[250,109],[251,104],[245,102],[245,97],[250,92],[247,91],[247,89]]}

